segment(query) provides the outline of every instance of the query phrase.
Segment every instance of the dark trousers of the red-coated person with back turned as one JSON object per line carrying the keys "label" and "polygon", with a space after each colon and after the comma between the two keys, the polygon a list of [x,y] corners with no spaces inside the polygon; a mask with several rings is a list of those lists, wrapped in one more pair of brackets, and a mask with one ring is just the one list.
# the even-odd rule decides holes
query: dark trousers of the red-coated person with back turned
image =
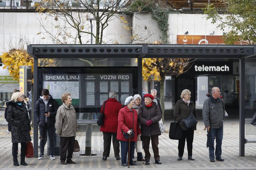
{"label": "dark trousers of the red-coated person with back turned", "polygon": [[109,133],[109,132],[102,132],[103,133],[103,156],[109,157],[110,153],[110,147],[111,147],[111,137],[112,137],[112,143],[113,143],[113,148],[114,148],[114,154],[115,157],[120,157],[120,143],[118,139],[116,139],[116,133]]}

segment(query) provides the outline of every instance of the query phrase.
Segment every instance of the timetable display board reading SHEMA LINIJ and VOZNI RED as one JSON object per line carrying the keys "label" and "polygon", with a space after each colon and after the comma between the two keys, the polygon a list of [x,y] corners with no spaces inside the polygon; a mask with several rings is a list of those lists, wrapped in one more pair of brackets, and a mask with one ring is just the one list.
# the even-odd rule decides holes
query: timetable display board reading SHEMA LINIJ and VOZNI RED
{"label": "timetable display board reading SHEMA LINIJ and VOZNI RED", "polygon": [[128,96],[138,93],[137,67],[44,67],[38,69],[38,78],[38,93],[47,88],[61,105],[62,93],[69,92],[80,112],[100,112],[111,90],[123,105]]}

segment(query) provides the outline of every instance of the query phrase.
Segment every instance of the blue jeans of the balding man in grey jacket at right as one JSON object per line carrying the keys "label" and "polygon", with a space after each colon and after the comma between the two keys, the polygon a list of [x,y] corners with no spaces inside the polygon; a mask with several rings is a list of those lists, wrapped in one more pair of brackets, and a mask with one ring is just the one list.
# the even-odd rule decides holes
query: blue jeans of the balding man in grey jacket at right
{"label": "blue jeans of the balding man in grey jacket at right", "polygon": [[210,128],[210,131],[208,133],[210,134],[209,157],[210,159],[214,159],[214,138],[216,136],[215,156],[216,156],[216,159],[220,158],[222,138],[223,138],[223,125],[219,129]]}

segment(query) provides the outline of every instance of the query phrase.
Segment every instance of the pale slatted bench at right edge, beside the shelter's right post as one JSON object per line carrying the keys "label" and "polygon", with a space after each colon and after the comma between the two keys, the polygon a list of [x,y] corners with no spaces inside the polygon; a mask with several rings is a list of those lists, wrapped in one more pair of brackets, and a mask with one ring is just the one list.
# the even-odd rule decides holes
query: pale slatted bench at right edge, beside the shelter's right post
{"label": "pale slatted bench at right edge, beside the shelter's right post", "polygon": [[251,124],[251,119],[245,119],[244,140],[244,143],[256,143],[256,126]]}

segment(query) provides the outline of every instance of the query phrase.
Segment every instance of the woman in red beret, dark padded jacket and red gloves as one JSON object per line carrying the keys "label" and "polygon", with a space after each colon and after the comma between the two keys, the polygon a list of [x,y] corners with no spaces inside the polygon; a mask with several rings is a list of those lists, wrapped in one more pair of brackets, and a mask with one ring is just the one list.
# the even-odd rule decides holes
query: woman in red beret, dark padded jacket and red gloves
{"label": "woman in red beret, dark padded jacket and red gloves", "polygon": [[151,94],[145,94],[145,105],[140,107],[138,112],[138,120],[141,125],[142,142],[144,144],[145,151],[145,165],[149,165],[151,156],[149,152],[150,139],[154,152],[155,163],[161,164],[158,149],[158,136],[161,135],[161,131],[158,122],[161,120],[162,114],[159,105],[153,102],[153,99],[154,97]]}

